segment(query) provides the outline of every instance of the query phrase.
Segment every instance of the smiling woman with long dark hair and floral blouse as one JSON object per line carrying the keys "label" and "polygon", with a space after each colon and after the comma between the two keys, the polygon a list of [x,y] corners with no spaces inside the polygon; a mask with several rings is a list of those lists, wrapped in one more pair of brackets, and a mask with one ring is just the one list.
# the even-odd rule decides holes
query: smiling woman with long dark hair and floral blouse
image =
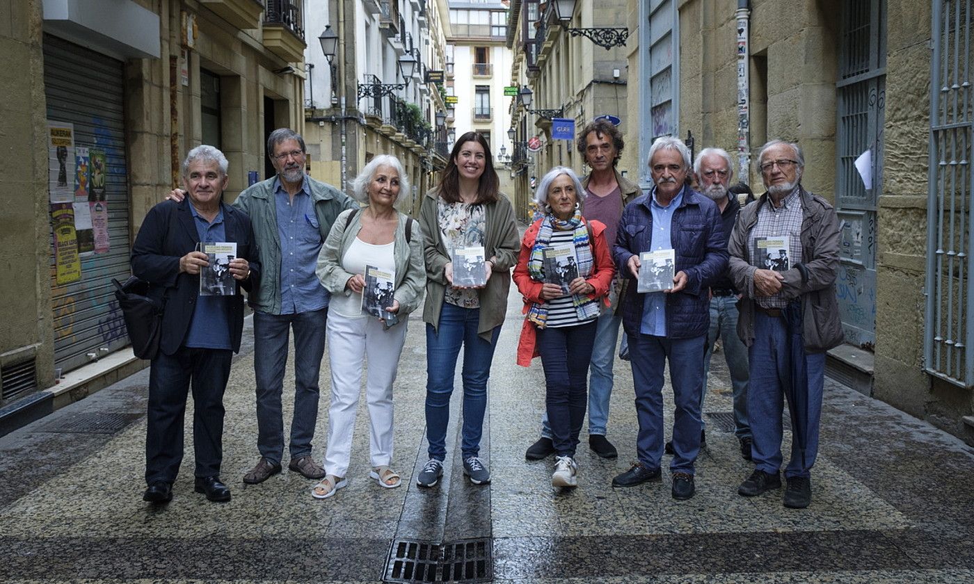
{"label": "smiling woman with long dark hair and floral blouse", "polygon": [[[443,474],[446,425],[460,348],[464,348],[464,417],[461,454],[464,474],[475,485],[490,482],[490,469],[480,458],[480,437],[487,407],[487,381],[501,333],[510,289],[510,269],[518,240],[514,210],[499,190],[490,144],[474,131],[453,146],[443,178],[423,198],[420,223],[426,253],[427,289],[423,320],[427,322],[427,439],[430,460],[416,483],[432,487]],[[452,252],[484,248],[487,283],[453,285]]]}

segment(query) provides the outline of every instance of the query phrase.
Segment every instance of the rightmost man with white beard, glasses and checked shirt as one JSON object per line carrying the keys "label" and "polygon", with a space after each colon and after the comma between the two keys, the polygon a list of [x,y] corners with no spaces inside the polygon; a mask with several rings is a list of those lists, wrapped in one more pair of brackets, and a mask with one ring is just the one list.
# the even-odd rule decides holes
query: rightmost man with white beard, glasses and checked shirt
{"label": "rightmost man with white beard, glasses and checked shirt", "polygon": [[[737,493],[756,496],[781,487],[787,397],[792,420],[803,420],[804,431],[793,433],[784,505],[804,509],[811,502],[810,470],[818,454],[825,351],[843,342],[834,286],[839,218],[828,201],[802,187],[805,158],[798,144],[768,142],[758,165],[768,192],[740,210],[729,244],[731,281],[743,295],[737,332],[749,347],[747,410],[755,464]],[[787,256],[787,266],[768,266],[771,252]],[[801,347],[792,343],[798,339]],[[796,393],[801,399],[793,398]]]}

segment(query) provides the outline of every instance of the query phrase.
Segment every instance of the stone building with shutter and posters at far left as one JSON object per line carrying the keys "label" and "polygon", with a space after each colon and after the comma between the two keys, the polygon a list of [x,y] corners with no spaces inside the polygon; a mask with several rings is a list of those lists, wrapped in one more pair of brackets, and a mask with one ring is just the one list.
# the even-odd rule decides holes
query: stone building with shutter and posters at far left
{"label": "stone building with shutter and posters at far left", "polygon": [[0,7],[5,413],[41,415],[145,366],[111,278],[128,276],[134,234],[194,146],[227,155],[227,201],[268,175],[266,136],[304,119],[302,18],[291,0]]}

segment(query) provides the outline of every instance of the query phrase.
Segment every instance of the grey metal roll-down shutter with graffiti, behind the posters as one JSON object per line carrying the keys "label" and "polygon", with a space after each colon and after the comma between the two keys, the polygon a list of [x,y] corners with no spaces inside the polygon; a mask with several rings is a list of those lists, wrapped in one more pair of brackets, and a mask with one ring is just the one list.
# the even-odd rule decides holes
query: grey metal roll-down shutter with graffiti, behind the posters
{"label": "grey metal roll-down shutter with graffiti, behind the posters", "polygon": [[103,150],[108,166],[109,251],[82,257],[81,279],[58,286],[52,235],[55,366],[69,371],[129,344],[111,287],[130,274],[122,62],[46,34],[44,83],[48,119],[73,124],[75,147]]}

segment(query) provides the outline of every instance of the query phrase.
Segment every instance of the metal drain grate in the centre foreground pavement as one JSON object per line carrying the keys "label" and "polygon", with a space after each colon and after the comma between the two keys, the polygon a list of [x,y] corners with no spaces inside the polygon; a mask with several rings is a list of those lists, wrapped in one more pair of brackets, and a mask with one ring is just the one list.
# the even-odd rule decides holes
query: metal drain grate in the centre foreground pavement
{"label": "metal drain grate in the centre foreground pavement", "polygon": [[393,539],[384,582],[490,582],[493,577],[489,538],[435,545]]}

